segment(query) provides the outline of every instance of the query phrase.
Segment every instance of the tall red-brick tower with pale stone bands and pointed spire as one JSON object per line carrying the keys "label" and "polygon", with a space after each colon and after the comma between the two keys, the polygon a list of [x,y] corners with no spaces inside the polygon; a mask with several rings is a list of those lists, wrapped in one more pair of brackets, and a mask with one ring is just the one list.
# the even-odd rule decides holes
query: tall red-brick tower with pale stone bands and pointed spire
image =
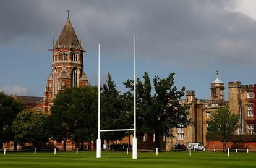
{"label": "tall red-brick tower with pale stone bands and pointed spire", "polygon": [[53,99],[56,95],[72,87],[85,87],[88,85],[88,79],[83,72],[83,49],[82,41],[77,39],[74,28],[69,20],[69,11],[67,22],[59,35],[59,39],[50,51],[53,52],[52,68],[47,85],[45,87],[45,96],[43,99],[43,112],[48,113],[50,106],[53,105]]}

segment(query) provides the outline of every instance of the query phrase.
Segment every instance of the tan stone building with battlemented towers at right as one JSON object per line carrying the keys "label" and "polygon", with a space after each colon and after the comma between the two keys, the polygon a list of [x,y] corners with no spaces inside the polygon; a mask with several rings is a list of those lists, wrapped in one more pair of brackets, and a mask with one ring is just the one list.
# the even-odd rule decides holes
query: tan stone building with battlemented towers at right
{"label": "tan stone building with battlemented towers at right", "polygon": [[193,119],[194,125],[187,128],[174,129],[174,138],[166,140],[166,149],[173,149],[175,143],[189,146],[189,143],[201,143],[207,145],[207,127],[210,116],[217,108],[228,106],[231,112],[239,115],[239,125],[236,135],[255,134],[255,109],[256,109],[256,84],[241,85],[240,81],[228,83],[228,101],[225,101],[225,86],[218,77],[210,85],[210,99],[203,100],[195,97],[195,91],[187,90],[186,99],[181,104],[190,104],[189,116]]}

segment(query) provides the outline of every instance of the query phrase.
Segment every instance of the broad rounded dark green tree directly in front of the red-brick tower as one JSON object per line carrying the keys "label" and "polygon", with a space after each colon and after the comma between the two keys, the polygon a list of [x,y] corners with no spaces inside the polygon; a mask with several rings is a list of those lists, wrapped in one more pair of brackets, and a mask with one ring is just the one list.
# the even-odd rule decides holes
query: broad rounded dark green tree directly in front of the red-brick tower
{"label": "broad rounded dark green tree directly in front of the red-brick tower", "polygon": [[81,143],[96,139],[98,97],[95,86],[70,88],[59,93],[51,107],[51,135],[54,140]]}

